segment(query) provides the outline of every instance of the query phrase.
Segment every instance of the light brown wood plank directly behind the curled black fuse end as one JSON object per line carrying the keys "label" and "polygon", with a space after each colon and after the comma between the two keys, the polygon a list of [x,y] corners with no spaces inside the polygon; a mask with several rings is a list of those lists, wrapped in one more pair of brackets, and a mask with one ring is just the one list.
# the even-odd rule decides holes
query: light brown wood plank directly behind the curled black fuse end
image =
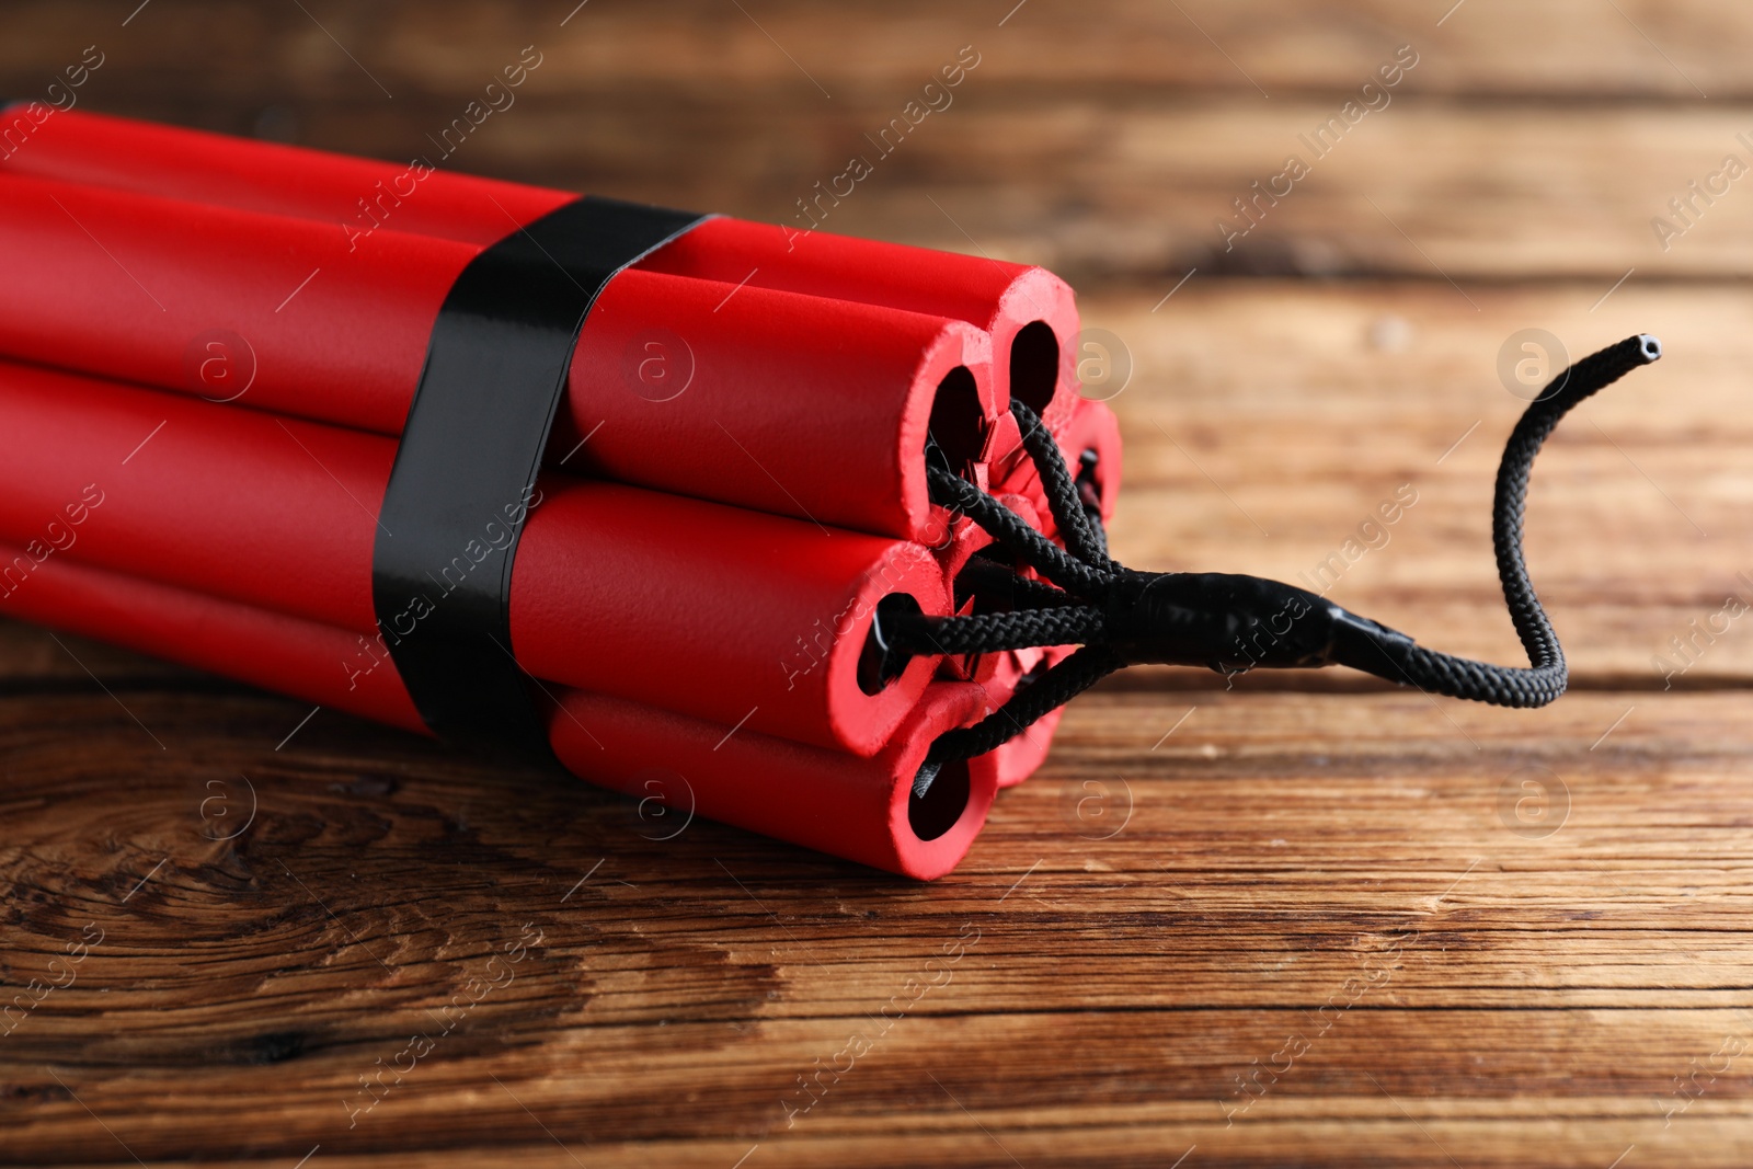
{"label": "light brown wood plank directly behind the curled black fuse end", "polygon": [[[1132,365],[1110,403],[1124,563],[1331,584],[1425,645],[1522,661],[1490,554],[1492,477],[1525,405],[1499,380],[1499,349],[1541,328],[1574,359],[1650,331],[1662,361],[1579,407],[1541,456],[1530,571],[1579,684],[1662,689],[1657,655],[1685,668],[1676,685],[1746,682],[1753,638],[1718,617],[1728,596],[1753,605],[1742,289],[1627,282],[1595,307],[1606,289],[1592,284],[1474,289],[1469,303],[1446,284],[1194,277],[1152,310],[1166,291],[1082,300]],[[1416,505],[1360,538],[1408,484]],[[1369,549],[1371,533],[1387,543]]]}

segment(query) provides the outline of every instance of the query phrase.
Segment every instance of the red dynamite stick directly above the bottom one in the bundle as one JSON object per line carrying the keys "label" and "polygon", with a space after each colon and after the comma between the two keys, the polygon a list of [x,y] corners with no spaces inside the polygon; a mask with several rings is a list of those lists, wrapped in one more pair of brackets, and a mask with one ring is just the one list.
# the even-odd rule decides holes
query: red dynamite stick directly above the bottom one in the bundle
{"label": "red dynamite stick directly above the bottom one in the bundle", "polygon": [[[884,596],[948,612],[917,543],[545,475],[536,498],[482,499],[479,540],[401,612],[375,613],[393,440],[18,365],[0,365],[0,538],[375,641],[331,664],[342,678],[382,668],[522,515],[510,650],[536,678],[869,755],[936,666],[861,687]],[[102,503],[70,526],[91,487]],[[0,582],[32,568],[0,566]]]}

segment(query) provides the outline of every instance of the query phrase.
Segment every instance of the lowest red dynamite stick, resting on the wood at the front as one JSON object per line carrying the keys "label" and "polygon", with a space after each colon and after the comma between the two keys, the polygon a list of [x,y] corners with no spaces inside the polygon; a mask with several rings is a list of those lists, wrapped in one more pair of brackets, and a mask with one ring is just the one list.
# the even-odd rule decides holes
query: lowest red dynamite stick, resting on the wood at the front
{"label": "lowest red dynamite stick, resting on the wood at the front", "polygon": [[[11,563],[23,547],[0,545]],[[12,613],[58,629],[210,670],[424,733],[393,668],[347,689],[331,662],[352,650],[344,629],[268,613],[170,585],[49,557],[9,598]],[[875,759],[805,747],[557,689],[549,740],[577,775],[643,799],[677,820],[698,813],[806,848],[919,880],[948,873],[968,852],[994,794],[976,759],[947,771],[924,801],[910,797],[931,740],[980,717],[975,687],[934,684]]]}

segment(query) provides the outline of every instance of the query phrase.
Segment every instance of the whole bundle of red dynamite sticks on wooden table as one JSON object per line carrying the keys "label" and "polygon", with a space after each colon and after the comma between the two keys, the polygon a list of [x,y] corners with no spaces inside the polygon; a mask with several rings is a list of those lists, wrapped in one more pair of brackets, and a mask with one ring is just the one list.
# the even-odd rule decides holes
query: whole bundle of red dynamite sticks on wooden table
{"label": "whole bundle of red dynamite sticks on wooden table", "polygon": [[[580,287],[540,475],[484,496],[501,421],[529,426],[496,382],[540,349],[517,305],[547,293],[500,277],[465,312],[463,289],[521,240],[580,286],[540,226],[577,196],[32,107],[0,133],[19,119],[0,613],[444,734],[424,694],[454,708],[475,680],[414,647],[498,596],[507,636],[489,613],[480,643],[568,769],[640,797],[664,776],[699,815],[920,878],[1041,762],[1052,717],[913,796],[936,736],[1069,648],[889,670],[882,615],[987,603],[962,577],[990,536],[933,503],[927,449],[1062,543],[1011,400],[1111,515],[1118,429],[1078,396],[1057,277],[687,221]],[[447,377],[466,417],[438,414]],[[428,498],[452,545],[407,526]]]}

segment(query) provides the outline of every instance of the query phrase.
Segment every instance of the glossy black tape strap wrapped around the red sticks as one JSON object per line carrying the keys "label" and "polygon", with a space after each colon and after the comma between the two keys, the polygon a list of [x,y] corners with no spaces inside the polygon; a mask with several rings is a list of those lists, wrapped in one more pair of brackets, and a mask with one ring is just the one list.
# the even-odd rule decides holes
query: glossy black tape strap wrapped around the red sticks
{"label": "glossy black tape strap wrapped around the red sticks", "polygon": [[586,196],[480,252],[426,351],[372,556],[372,605],[449,743],[552,757],[512,657],[512,563],[584,319],[628,265],[706,219]]}

